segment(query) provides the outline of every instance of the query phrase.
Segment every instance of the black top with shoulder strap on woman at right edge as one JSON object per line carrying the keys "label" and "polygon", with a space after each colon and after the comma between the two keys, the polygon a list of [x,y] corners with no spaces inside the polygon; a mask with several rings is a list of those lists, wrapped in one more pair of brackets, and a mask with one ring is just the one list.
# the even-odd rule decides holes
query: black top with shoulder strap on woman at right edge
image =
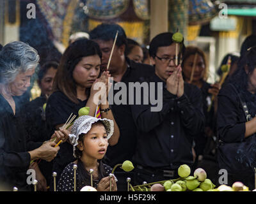
{"label": "black top with shoulder strap on woman at right edge", "polygon": [[[236,87],[227,84],[218,94],[217,126],[220,140],[225,143],[242,142],[245,134],[246,117],[238,98]],[[256,114],[256,94],[252,94],[240,87],[241,97],[248,106],[252,117]]]}

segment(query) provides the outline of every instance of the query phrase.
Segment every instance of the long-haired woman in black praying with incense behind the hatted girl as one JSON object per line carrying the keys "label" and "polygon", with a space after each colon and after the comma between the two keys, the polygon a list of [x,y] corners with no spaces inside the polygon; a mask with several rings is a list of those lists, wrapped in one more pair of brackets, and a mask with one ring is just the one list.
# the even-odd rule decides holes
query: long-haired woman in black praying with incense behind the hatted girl
{"label": "long-haired woman in black praying with incense behind the hatted girl", "polygon": [[[109,145],[115,145],[118,142],[119,129],[111,112],[111,106],[108,105],[108,100],[100,103],[99,98],[95,97],[98,92],[95,89],[97,82],[106,85],[106,90],[102,90],[106,91],[104,94],[108,96],[110,75],[108,71],[104,71],[99,77],[101,57],[99,45],[92,40],[78,40],[69,45],[61,57],[54,78],[53,93],[46,106],[46,119],[52,129],[58,129],[65,124],[71,113],[78,116],[79,109],[84,106],[90,108],[88,115],[95,117],[99,105],[101,117],[114,121],[115,131],[109,139]],[[72,150],[70,143],[61,144],[60,152],[53,164],[57,181],[65,166],[75,160]]]}

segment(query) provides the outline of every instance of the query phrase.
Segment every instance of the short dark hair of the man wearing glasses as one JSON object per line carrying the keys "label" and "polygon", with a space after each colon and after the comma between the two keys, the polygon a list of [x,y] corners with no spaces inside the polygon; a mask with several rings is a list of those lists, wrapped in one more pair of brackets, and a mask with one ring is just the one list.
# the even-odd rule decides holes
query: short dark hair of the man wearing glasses
{"label": "short dark hair of the man wearing glasses", "polygon": [[[174,43],[174,41],[172,40],[172,36],[173,36],[173,33],[157,34],[157,36],[155,36],[152,39],[152,41],[150,42],[150,45],[149,45],[150,57],[156,57],[157,48],[172,45],[172,43]],[[185,45],[184,45],[184,39],[182,40],[182,43],[180,43],[180,45],[182,45],[181,54],[182,54],[182,56],[184,56],[184,53],[186,50]]]}

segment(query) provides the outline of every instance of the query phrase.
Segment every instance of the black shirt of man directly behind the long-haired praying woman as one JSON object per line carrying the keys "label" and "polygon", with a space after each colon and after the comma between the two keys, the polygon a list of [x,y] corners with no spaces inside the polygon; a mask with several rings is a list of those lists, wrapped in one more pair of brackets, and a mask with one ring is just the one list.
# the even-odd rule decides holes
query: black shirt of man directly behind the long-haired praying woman
{"label": "black shirt of man directly behind the long-haired praying woman", "polygon": [[[143,78],[147,78],[154,74],[154,68],[147,64],[139,64],[134,61],[130,61],[128,58],[127,64],[128,68],[125,71],[124,76],[120,82],[124,82],[128,87],[129,82],[143,81]],[[113,82],[113,85],[118,84],[118,82]],[[116,92],[121,90],[114,90],[114,96]],[[111,91],[109,92],[111,94]],[[137,128],[132,119],[131,105],[129,105],[129,90],[127,89],[127,105],[120,104],[111,105],[113,116],[115,117],[116,124],[120,129],[120,138],[118,143],[114,146],[108,146],[108,151],[106,152],[106,163],[109,166],[115,166],[115,164],[121,164],[125,160],[132,161],[132,157],[136,150],[136,140],[137,140]],[[110,102],[109,102],[110,103]]]}

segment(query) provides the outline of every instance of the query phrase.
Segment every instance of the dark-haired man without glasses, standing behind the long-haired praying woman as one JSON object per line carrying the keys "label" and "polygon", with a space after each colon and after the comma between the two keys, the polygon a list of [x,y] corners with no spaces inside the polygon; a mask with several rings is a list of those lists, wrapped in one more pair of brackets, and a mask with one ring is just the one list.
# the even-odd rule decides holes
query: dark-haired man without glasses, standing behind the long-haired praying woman
{"label": "dark-haired man without glasses, standing behind the long-haired praying woman", "polygon": [[[127,37],[124,29],[118,24],[100,24],[95,29],[90,31],[90,39],[99,44],[102,51],[101,68],[108,67],[109,57],[113,43],[116,38],[113,55],[109,64],[109,73],[113,77],[113,85],[118,85],[118,82],[123,82],[127,85],[129,82],[137,82],[143,80],[154,73],[154,68],[147,64],[139,64],[125,57],[125,47],[127,47]],[[113,96],[120,90],[113,90]],[[129,91],[127,89],[127,103],[118,103],[113,100],[111,109],[115,116],[116,123],[120,128],[120,138],[115,146],[108,148],[106,154],[106,163],[114,167],[116,164],[123,163],[125,160],[132,161],[134,150],[136,149],[137,130],[132,119],[131,106],[129,105]],[[118,191],[127,191],[127,177],[132,179],[133,173],[127,173],[121,170],[116,170],[115,176],[118,179]]]}

